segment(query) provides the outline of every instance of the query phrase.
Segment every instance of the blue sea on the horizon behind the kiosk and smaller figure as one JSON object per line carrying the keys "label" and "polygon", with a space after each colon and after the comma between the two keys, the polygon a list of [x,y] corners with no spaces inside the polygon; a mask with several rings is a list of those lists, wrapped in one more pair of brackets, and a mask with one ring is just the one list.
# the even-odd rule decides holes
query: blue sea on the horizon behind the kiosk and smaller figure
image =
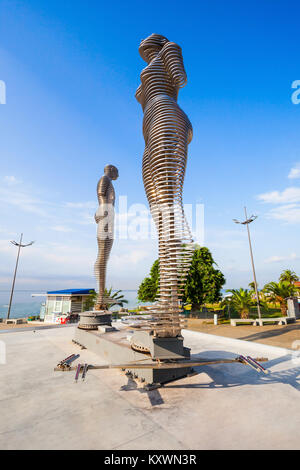
{"label": "blue sea on the horizon behind the kiosk and smaller figure", "polygon": [[[34,292],[35,295],[41,294],[41,296],[32,297],[32,292]],[[46,296],[42,296],[44,293],[45,291],[15,290],[10,311],[10,318],[22,318],[31,315],[39,315],[41,304],[46,302]],[[124,295],[124,298],[128,300],[128,304],[124,304],[124,307],[133,309],[138,305],[143,305],[141,302],[138,302],[137,290],[123,290],[122,294]],[[7,316],[9,298],[10,291],[0,291],[0,318],[6,318]]]}

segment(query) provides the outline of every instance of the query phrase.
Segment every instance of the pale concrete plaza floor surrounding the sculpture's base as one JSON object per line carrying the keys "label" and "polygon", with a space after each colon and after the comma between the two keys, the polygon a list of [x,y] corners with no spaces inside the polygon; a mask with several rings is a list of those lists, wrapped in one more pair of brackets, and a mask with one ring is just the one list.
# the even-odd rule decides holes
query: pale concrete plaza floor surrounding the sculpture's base
{"label": "pale concrete plaza floor surrounding the sculpture's base", "polygon": [[[89,371],[86,382],[54,372],[79,352],[73,327],[0,335],[0,449],[300,449],[300,360],[291,351],[185,331],[194,357],[268,356],[268,376],[241,364],[145,392],[118,370]],[[1,346],[1,344],[0,344]]]}

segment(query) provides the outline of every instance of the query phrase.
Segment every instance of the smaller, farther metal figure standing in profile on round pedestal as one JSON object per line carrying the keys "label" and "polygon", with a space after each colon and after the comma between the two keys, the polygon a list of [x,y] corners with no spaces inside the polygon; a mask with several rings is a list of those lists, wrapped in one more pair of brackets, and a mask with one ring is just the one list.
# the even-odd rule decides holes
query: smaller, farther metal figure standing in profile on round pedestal
{"label": "smaller, farther metal figure standing in profile on round pedestal", "polygon": [[99,207],[95,214],[97,226],[98,256],[95,263],[95,276],[98,284],[98,297],[95,310],[107,310],[107,301],[104,296],[106,268],[109,254],[114,242],[114,205],[115,190],[112,181],[119,176],[118,169],[113,165],[106,165],[104,175],[97,185]]}

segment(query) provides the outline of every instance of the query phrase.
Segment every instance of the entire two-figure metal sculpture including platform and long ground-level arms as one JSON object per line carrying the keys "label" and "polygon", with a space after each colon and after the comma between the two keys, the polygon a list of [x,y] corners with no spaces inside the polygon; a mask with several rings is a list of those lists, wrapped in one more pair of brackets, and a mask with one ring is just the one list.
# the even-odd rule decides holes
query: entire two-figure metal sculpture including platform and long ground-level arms
{"label": "entire two-figure metal sculpture including platform and long ground-level arms", "polygon": [[[107,327],[110,325],[110,318],[104,318],[109,316],[109,312],[81,314],[82,325],[75,330],[73,341],[104,357],[108,364],[78,364],[75,381],[78,381],[81,372],[82,379],[85,379],[90,369],[120,368],[126,371],[129,383],[133,378],[139,378],[145,383],[146,390],[152,390],[189,375],[193,372],[192,367],[237,362],[248,365],[257,372],[267,373],[258,359],[249,356],[192,361],[190,348],[183,345],[179,302],[194,250],[182,205],[187,148],[192,139],[192,126],[177,104],[179,88],[186,83],[186,73],[180,47],[164,36],[152,34],[141,42],[139,51],[148,63],[141,73],[142,83],[136,97],[144,111],[143,180],[158,231],[159,295],[149,322],[138,321],[128,327],[118,325],[118,329],[113,330]],[[111,206],[114,204],[111,180],[118,175],[116,168],[114,170],[111,173],[111,168],[108,168],[108,174],[98,184],[99,209],[95,216],[99,243],[95,266],[99,280],[98,308],[105,303],[103,293],[106,263],[113,241],[112,212],[110,211],[110,225],[107,225],[108,221],[104,220],[104,216],[108,214],[104,207],[107,202],[111,202]],[[88,331],[97,329],[99,325],[101,328],[97,333]],[[130,333],[127,328],[131,330]],[[121,364],[118,363],[120,358]],[[75,370],[75,367],[70,365],[68,357],[55,370]]]}

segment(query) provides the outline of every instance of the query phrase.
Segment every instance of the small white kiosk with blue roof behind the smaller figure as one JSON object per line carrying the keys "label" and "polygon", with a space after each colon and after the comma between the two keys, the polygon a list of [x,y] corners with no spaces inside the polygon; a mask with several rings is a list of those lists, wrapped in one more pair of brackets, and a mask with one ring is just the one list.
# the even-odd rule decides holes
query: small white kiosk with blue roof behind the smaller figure
{"label": "small white kiosk with blue roof behind the smaller figure", "polygon": [[79,314],[84,311],[84,302],[95,289],[63,289],[47,292],[46,323],[57,323],[61,316]]}

